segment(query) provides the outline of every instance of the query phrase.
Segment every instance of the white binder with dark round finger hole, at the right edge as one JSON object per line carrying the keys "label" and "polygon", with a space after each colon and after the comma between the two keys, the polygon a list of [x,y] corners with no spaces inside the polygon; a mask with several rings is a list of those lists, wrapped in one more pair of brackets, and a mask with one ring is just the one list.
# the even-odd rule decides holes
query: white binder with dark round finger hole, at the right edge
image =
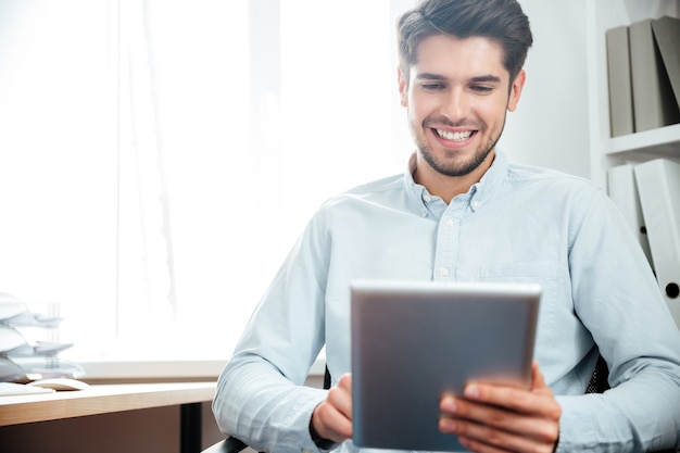
{"label": "white binder with dark round finger hole, at the right edge", "polygon": [[655,159],[634,173],[656,279],[680,327],[680,163]]}

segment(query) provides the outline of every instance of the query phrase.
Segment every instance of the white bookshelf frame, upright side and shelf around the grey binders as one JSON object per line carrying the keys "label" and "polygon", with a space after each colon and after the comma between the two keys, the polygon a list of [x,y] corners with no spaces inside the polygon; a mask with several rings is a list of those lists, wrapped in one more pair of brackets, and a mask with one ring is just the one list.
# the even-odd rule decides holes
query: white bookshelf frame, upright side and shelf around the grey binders
{"label": "white bookshelf frame, upright side and shelf around the grey binders", "polygon": [[597,0],[587,2],[588,96],[591,178],[606,187],[606,173],[626,162],[666,158],[680,161],[680,124],[612,138],[605,32],[643,18],[680,17],[680,0]]}

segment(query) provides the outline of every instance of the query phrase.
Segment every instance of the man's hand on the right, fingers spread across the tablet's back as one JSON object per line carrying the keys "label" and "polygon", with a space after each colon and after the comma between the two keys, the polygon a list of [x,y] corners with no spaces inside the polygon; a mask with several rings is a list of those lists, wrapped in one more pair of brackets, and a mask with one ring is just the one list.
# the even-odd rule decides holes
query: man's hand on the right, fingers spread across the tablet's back
{"label": "man's hand on the right, fingers spread across the tablet's back", "polygon": [[439,429],[474,452],[553,452],[562,408],[536,361],[531,382],[528,391],[473,382],[463,397],[445,395]]}

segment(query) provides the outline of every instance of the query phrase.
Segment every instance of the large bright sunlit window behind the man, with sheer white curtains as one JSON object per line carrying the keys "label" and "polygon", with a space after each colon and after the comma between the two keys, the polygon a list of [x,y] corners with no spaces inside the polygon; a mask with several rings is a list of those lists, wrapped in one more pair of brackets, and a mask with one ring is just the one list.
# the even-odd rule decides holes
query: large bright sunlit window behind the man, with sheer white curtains
{"label": "large bright sunlit window behind the man, with sheer white curtains", "polygon": [[228,356],[317,206],[405,167],[410,4],[0,5],[0,291],[76,360]]}

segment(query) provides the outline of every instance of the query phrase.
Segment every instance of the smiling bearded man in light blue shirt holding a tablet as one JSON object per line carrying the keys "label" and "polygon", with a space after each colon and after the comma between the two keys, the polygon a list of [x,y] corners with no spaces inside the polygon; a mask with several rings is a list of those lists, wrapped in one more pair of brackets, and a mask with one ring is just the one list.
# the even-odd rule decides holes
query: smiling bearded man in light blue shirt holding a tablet
{"label": "smiling bearded man in light blue shirt holding a tablet", "polygon": [[[219,378],[221,428],[260,450],[355,450],[350,281],[509,280],[543,287],[532,386],[442,398],[441,431],[477,452],[680,445],[680,334],[625,221],[589,181],[495,149],[532,43],[519,4],[425,0],[399,40],[408,171],[312,218]],[[335,387],[302,387],[324,345]],[[583,394],[599,354],[613,389]]]}

